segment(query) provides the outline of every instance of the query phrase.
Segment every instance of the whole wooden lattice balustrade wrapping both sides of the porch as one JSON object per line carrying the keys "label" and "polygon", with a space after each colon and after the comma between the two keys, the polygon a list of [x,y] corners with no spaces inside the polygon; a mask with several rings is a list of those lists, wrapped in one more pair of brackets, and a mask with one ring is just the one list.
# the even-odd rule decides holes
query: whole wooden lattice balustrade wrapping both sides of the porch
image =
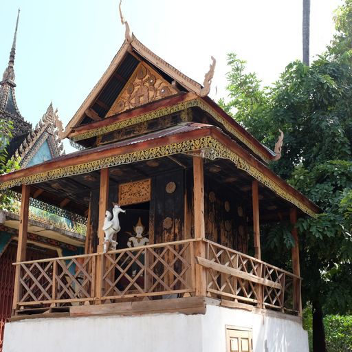
{"label": "whole wooden lattice balustrade wrapping both sides of the porch", "polygon": [[[197,243],[206,249],[203,256]],[[21,293],[17,309],[195,296],[199,265],[206,272],[208,296],[299,314],[299,292],[294,290],[298,276],[204,239],[16,265]]]}

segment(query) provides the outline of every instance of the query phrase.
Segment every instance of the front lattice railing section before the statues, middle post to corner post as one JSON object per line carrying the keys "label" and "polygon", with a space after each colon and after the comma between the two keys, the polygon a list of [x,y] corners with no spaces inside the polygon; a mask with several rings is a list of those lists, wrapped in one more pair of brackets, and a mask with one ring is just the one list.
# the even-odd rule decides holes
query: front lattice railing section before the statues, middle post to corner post
{"label": "front lattice railing section before the statues, middle post to corner post", "polygon": [[193,246],[192,240],[177,241],[104,254],[102,299],[195,292]]}

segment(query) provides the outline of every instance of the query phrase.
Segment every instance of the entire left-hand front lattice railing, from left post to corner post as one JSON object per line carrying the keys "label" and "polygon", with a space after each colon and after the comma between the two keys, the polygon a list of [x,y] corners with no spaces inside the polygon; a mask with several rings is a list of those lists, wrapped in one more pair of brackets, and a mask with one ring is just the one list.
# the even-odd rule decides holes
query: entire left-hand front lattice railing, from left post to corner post
{"label": "entire left-hand front lattice railing, from left post to corner post", "polygon": [[193,294],[194,242],[177,241],[106,254],[17,263],[20,267],[17,308]]}

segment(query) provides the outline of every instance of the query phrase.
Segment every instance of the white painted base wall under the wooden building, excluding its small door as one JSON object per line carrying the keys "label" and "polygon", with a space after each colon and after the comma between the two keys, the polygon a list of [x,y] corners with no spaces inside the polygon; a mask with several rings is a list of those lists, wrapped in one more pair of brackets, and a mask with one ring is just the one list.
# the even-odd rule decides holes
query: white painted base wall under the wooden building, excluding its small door
{"label": "white painted base wall under the wooden building, excluding its small door", "polygon": [[254,352],[308,352],[307,333],[299,322],[213,305],[207,305],[206,315],[10,322],[5,325],[3,352],[225,352],[225,325],[252,328]]}

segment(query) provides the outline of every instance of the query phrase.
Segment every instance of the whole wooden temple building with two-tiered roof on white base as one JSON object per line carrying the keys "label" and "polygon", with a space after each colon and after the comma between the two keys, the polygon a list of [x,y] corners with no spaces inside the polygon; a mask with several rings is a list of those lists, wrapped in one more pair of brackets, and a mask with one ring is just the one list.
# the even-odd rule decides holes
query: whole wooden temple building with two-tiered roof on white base
{"label": "whole wooden temple building with two-tiered roof on white base", "polygon": [[[106,72],[66,128],[57,123],[82,150],[0,176],[1,190],[21,194],[4,352],[308,351],[294,224],[318,207],[268,168],[280,146],[208,97],[214,60],[200,85],[123,22]],[[26,256],[34,198],[87,217],[84,254]],[[116,207],[117,247],[105,252]],[[290,271],[261,260],[261,225],[283,220]]]}

